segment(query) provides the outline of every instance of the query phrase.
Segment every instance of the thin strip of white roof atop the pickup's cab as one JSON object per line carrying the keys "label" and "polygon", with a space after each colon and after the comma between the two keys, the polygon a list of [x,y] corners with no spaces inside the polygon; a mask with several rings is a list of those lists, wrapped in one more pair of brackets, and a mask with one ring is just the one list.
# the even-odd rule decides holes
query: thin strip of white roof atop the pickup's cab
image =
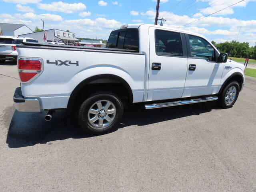
{"label": "thin strip of white roof atop the pickup's cab", "polygon": [[205,36],[203,36],[202,34],[198,34],[192,31],[187,31],[187,30],[182,30],[182,29],[177,29],[177,28],[172,28],[172,27],[168,27],[168,26],[160,26],[160,25],[154,25],[154,24],[144,24],[144,23],[138,23],[138,24],[127,24],[127,25],[122,25],[119,28],[115,28],[114,30],[118,30],[120,28],[139,28],[140,26],[145,26],[145,27],[156,27],[159,29],[165,29],[165,30],[171,30],[171,31],[177,31],[177,32],[183,32],[183,33],[187,33],[187,34],[191,34],[191,35],[195,35],[195,36],[200,36],[203,38],[206,38]]}

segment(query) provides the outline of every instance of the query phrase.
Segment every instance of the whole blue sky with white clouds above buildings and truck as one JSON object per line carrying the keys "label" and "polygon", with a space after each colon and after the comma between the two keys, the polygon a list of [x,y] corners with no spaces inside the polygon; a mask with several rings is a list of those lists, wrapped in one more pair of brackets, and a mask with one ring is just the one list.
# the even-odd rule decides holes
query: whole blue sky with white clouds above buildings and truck
{"label": "whole blue sky with white clouds above buildings and truck", "polygon": [[[256,0],[244,0],[193,22],[239,1],[161,0],[159,16],[167,20],[166,26],[198,32],[216,42],[236,40],[241,27],[238,41],[254,46]],[[0,0],[0,4],[0,22],[22,23],[34,30],[36,26],[42,28],[40,19],[44,19],[46,29],[70,30],[77,37],[103,39],[122,24],[153,24],[156,8],[156,0]]]}

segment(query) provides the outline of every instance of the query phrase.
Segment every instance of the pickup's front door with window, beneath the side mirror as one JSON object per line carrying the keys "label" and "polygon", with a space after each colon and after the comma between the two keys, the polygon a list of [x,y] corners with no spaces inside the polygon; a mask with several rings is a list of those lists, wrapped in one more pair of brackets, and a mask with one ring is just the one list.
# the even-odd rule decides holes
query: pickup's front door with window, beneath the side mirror
{"label": "pickup's front door with window, beneath the side mirror", "polygon": [[224,68],[218,52],[204,38],[185,34],[188,44],[188,72],[182,97],[216,94]]}

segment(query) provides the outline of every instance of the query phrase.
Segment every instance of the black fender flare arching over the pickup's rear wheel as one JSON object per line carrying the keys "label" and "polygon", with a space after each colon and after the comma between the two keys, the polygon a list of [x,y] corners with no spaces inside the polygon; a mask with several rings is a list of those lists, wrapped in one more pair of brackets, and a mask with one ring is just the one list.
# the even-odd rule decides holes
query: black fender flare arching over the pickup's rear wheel
{"label": "black fender flare arching over the pickup's rear wheel", "polygon": [[129,103],[133,102],[133,94],[132,94],[132,89],[130,87],[130,85],[126,82],[126,80],[124,80],[123,78],[121,78],[120,76],[117,75],[113,75],[113,74],[100,74],[100,75],[95,75],[89,78],[86,78],[85,80],[83,80],[82,82],[80,82],[76,88],[74,88],[74,90],[72,91],[70,98],[68,100],[68,106],[67,108],[73,108],[74,104],[75,104],[75,100],[76,100],[76,96],[78,96],[78,94],[80,93],[80,91],[82,91],[82,89],[87,86],[88,84],[90,84],[93,81],[96,80],[101,80],[101,79],[110,79],[110,80],[114,80],[119,82],[120,84],[122,84],[122,86],[124,86],[124,88],[126,89],[127,93],[128,93],[128,97],[129,97]]}

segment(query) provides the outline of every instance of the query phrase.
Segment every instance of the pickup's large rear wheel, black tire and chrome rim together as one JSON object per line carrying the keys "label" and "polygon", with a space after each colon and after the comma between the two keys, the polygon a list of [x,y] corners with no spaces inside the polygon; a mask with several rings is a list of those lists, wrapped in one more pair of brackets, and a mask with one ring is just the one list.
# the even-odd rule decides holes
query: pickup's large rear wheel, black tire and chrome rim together
{"label": "pickup's large rear wheel, black tire and chrome rim together", "polygon": [[117,128],[124,107],[111,92],[99,92],[86,99],[78,109],[78,122],[89,134],[105,134]]}

